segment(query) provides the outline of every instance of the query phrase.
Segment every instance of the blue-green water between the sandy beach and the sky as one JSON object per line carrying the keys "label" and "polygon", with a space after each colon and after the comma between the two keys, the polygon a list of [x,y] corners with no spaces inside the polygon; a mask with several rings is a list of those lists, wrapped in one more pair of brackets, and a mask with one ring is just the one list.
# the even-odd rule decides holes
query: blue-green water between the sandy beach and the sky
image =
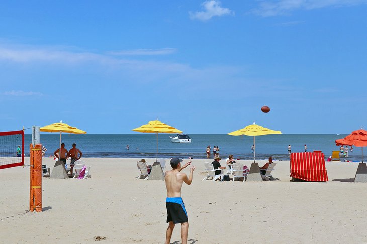
{"label": "blue-green water between the sandy beach and the sky", "polygon": [[[213,149],[219,146],[222,158],[233,154],[238,159],[253,159],[251,146],[253,137],[230,136],[227,134],[192,134],[191,143],[172,143],[169,134],[158,134],[158,158],[206,158],[206,147]],[[281,134],[258,136],[256,140],[256,159],[267,159],[272,156],[277,160],[288,160],[288,145],[292,152],[303,152],[307,145],[308,152],[321,150],[325,156],[331,156],[333,150],[339,150],[335,145],[335,139],[346,135],[336,134]],[[60,134],[41,134],[40,141],[48,149],[46,156],[53,155],[59,148]],[[123,158],[155,158],[156,134],[62,134],[62,140],[66,149],[70,149],[72,143],[83,152],[83,157],[123,157]],[[29,154],[31,135],[25,135],[25,153]],[[126,150],[126,145],[130,146]],[[213,152],[211,152],[211,156]],[[349,150],[348,160],[361,160],[361,148],[353,147]]]}

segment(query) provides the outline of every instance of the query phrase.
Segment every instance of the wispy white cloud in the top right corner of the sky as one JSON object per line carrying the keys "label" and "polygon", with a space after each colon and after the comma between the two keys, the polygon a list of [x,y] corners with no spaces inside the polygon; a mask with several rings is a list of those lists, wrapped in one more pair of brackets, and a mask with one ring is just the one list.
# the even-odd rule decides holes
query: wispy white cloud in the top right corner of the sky
{"label": "wispy white cloud in the top right corner of the sky", "polygon": [[326,7],[343,7],[367,4],[367,0],[261,0],[253,13],[263,17],[285,15],[294,10],[312,10]]}

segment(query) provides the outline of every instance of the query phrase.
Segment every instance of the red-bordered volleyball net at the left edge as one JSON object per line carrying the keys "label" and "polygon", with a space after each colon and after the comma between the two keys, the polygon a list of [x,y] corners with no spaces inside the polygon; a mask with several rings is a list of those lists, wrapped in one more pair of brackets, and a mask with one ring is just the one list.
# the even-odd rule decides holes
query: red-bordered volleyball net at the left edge
{"label": "red-bordered volleyball net at the left edge", "polygon": [[0,169],[24,165],[24,131],[0,132]]}

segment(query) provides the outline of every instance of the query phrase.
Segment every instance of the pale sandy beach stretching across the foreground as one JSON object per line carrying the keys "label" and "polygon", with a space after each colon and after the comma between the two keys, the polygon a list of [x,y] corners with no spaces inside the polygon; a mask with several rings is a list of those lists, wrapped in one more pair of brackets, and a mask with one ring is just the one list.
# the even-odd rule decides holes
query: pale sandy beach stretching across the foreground
{"label": "pale sandy beach stretching across the foreground", "polygon": [[[139,159],[83,160],[89,179],[43,178],[39,213],[27,212],[29,167],[0,170],[0,242],[163,243],[164,181],[136,180]],[[350,182],[357,163],[326,162],[329,181],[318,183],[290,182],[289,161],[276,161],[280,181],[202,181],[204,162],[211,160],[192,160],[193,183],[182,188],[189,243],[367,243],[367,184]],[[43,164],[52,170],[54,161]],[[181,242],[180,225],[171,242]]]}

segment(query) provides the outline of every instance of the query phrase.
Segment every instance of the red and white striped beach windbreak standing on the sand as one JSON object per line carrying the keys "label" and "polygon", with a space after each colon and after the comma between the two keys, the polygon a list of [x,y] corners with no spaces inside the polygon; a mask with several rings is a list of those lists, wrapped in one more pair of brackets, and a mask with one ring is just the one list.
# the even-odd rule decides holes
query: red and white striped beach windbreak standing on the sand
{"label": "red and white striped beach windbreak standing on the sand", "polygon": [[291,153],[291,177],[305,181],[328,181],[322,152]]}

